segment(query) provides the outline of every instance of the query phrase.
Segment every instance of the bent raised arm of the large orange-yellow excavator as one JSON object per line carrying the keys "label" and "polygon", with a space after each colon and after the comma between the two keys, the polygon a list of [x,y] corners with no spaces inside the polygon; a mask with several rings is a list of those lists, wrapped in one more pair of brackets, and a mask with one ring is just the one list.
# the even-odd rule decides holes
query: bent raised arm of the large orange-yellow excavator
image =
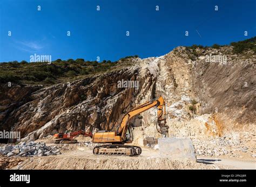
{"label": "bent raised arm of the large orange-yellow excavator", "polygon": [[159,133],[161,133],[164,137],[168,136],[168,126],[166,126],[166,110],[165,110],[165,101],[163,97],[159,97],[158,99],[151,100],[146,102],[142,105],[137,106],[136,108],[132,109],[131,111],[127,112],[121,124],[117,130],[117,135],[121,135],[122,139],[125,139],[127,128],[129,127],[129,121],[138,114],[151,109],[152,107],[157,107],[157,117],[158,117],[158,126],[160,127]]}

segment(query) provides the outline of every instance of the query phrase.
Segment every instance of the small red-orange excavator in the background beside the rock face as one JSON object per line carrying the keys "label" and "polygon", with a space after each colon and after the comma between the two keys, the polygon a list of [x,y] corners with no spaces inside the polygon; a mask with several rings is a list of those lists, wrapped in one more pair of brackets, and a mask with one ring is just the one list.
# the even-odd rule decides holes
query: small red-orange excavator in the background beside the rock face
{"label": "small red-orange excavator in the background beside the rock face", "polygon": [[73,139],[75,136],[82,134],[84,136],[89,136],[92,138],[92,133],[84,131],[65,131],[65,133],[58,133],[54,135],[55,143],[76,143],[77,140]]}

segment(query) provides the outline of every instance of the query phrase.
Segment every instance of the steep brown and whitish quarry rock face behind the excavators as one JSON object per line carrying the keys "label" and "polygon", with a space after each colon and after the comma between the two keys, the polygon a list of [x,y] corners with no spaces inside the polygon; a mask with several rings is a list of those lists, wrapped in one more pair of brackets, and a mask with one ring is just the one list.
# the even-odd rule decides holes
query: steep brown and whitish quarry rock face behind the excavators
{"label": "steep brown and whitish quarry rock face behind the excavators", "polygon": [[[255,55],[233,56],[228,46],[198,48],[197,56],[190,50],[178,47],[160,57],[133,59],[121,70],[47,88],[0,85],[0,130],[20,131],[23,141],[65,130],[114,131],[127,111],[163,96],[170,137],[255,132]],[[211,54],[226,60],[208,62]],[[120,86],[122,81],[137,81],[138,87]],[[159,138],[156,120],[156,109],[134,118],[135,138]]]}

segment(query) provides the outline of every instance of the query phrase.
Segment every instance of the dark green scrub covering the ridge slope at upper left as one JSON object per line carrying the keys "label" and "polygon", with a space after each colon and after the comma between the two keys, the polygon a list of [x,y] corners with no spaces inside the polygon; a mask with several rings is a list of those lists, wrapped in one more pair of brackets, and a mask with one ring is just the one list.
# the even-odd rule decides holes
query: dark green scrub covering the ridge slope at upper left
{"label": "dark green scrub covering the ridge slope at upper left", "polygon": [[[132,57],[120,59],[122,66],[129,64]],[[47,62],[12,61],[0,63],[0,83],[28,83],[28,84],[55,84],[65,80],[72,80],[80,76],[90,76],[104,73],[117,67],[119,61],[110,60],[85,61],[84,59],[57,59],[51,64]]]}

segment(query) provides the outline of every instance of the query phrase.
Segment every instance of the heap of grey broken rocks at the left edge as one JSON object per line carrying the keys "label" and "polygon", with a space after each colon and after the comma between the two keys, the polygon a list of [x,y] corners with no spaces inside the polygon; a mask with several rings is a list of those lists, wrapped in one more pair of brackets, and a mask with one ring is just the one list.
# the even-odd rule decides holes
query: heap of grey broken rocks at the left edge
{"label": "heap of grey broken rocks at the left edge", "polygon": [[32,157],[32,156],[49,156],[61,154],[60,150],[56,147],[46,146],[41,142],[21,142],[18,145],[5,145],[0,147],[0,153],[6,156],[16,157]]}

